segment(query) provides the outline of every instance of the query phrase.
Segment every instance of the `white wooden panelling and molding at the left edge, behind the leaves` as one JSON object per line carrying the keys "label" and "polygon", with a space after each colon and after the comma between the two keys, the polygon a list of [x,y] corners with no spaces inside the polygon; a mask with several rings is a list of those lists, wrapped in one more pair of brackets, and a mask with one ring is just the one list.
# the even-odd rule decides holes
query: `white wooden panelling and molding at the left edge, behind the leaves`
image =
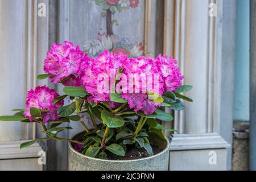
{"label": "white wooden panelling and molding at the left edge, behind the leaves", "polygon": [[[42,2],[46,4],[45,17],[38,16],[38,3]],[[48,50],[48,0],[1,1],[0,30],[0,115],[8,115],[13,114],[11,109],[26,107],[27,90],[47,85],[47,80],[37,81],[36,75],[43,73]],[[36,159],[42,151],[39,144],[19,149],[20,143],[42,136],[36,131],[40,130],[35,123],[0,123],[0,170],[42,170]]]}

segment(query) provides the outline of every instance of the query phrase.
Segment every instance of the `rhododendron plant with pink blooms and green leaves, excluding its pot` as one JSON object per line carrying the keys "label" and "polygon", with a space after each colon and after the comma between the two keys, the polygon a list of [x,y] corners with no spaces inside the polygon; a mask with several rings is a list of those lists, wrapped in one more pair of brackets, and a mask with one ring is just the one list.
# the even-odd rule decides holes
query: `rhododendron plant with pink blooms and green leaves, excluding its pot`
{"label": "rhododendron plant with pink blooms and green leaves, excluding its pot", "polygon": [[[184,77],[177,60],[167,55],[130,58],[122,52],[105,50],[97,57],[89,57],[71,42],[53,43],[44,60],[44,71],[47,74],[38,79],[49,78],[55,84],[63,84],[64,95],[37,86],[28,91],[26,110],[0,117],[2,121],[40,123],[47,137],[23,143],[21,148],[56,139],[71,142],[84,155],[102,159],[125,156],[127,146],[153,155],[150,136],[165,140],[162,130],[174,132],[160,124],[173,120],[164,107],[183,110],[182,100],[192,101],[181,94],[192,86],[182,85]],[[72,102],[63,106],[66,97]],[[82,121],[81,114],[90,116],[92,128]],[[57,137],[61,131],[72,129],[61,126],[70,121],[81,123],[82,140]]]}

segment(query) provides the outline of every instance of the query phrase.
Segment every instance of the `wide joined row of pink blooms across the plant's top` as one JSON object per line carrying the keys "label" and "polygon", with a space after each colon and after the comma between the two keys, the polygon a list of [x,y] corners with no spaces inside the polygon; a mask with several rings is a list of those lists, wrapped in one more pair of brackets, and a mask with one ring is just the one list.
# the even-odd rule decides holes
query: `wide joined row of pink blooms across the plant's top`
{"label": "wide joined row of pink blooms across the plant's top", "polygon": [[[124,68],[115,87],[115,77]],[[148,93],[162,95],[166,90],[175,91],[182,84],[183,76],[177,61],[166,55],[156,59],[140,56],[129,58],[121,52],[104,51],[96,58],[82,53],[72,43],[53,44],[44,61],[44,70],[52,74],[52,82],[63,80],[66,86],[84,86],[90,93],[88,102],[109,102],[110,93],[115,90],[128,101],[130,109],[142,110],[145,114],[154,113],[160,103],[148,98]],[[137,80],[138,82],[136,82]],[[134,82],[130,82],[134,81]],[[148,84],[150,83],[150,84]]]}

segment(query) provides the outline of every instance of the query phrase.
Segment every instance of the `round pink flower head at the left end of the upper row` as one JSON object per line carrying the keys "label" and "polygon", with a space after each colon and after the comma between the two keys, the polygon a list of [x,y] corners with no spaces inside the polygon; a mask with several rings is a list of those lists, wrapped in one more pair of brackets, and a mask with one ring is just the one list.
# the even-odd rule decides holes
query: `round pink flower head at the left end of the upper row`
{"label": "round pink flower head at the left end of the upper row", "polygon": [[49,80],[56,84],[63,78],[79,72],[85,58],[79,46],[74,47],[71,42],[65,41],[64,45],[53,43],[44,60],[44,71],[52,75]]}

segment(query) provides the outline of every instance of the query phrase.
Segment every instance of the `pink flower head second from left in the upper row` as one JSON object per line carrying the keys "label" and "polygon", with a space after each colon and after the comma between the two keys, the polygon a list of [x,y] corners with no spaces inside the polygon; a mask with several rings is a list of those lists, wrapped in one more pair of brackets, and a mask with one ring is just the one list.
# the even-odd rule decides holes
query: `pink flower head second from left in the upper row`
{"label": "pink flower head second from left in the upper row", "polygon": [[96,59],[86,62],[81,81],[86,91],[92,94],[88,102],[110,101],[111,84],[114,82],[110,82],[110,78],[115,78],[118,69],[122,67],[122,61],[126,59],[127,56],[122,53],[114,54],[105,50]]}

